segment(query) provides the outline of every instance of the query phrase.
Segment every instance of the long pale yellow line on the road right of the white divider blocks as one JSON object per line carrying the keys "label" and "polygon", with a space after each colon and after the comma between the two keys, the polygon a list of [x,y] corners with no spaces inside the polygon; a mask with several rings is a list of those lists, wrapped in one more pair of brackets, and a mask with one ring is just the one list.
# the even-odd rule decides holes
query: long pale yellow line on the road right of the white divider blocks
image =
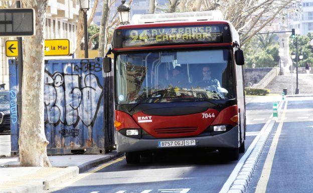
{"label": "long pale yellow line on the road right of the white divider blocks", "polygon": [[259,179],[259,181],[258,181],[258,183],[256,185],[255,193],[265,193],[266,192],[266,187],[267,187],[267,183],[268,183],[268,180],[269,180],[270,172],[271,172],[271,169],[272,169],[272,164],[273,164],[273,159],[274,159],[274,155],[275,155],[275,152],[276,152],[276,147],[277,147],[277,144],[278,144],[278,140],[279,140],[279,136],[280,136],[280,133],[281,133],[282,125],[283,125],[284,118],[285,118],[285,115],[286,115],[287,103],[288,102],[286,101],[284,109],[283,109],[283,112],[282,112],[282,115],[281,115],[281,119],[279,121],[277,130],[276,130],[276,133],[274,135],[272,144],[271,144],[271,146],[269,148],[269,151],[267,153],[267,157],[265,159],[265,163],[264,163],[264,166],[263,166],[263,169],[262,169],[261,177],[260,177],[260,179]]}

